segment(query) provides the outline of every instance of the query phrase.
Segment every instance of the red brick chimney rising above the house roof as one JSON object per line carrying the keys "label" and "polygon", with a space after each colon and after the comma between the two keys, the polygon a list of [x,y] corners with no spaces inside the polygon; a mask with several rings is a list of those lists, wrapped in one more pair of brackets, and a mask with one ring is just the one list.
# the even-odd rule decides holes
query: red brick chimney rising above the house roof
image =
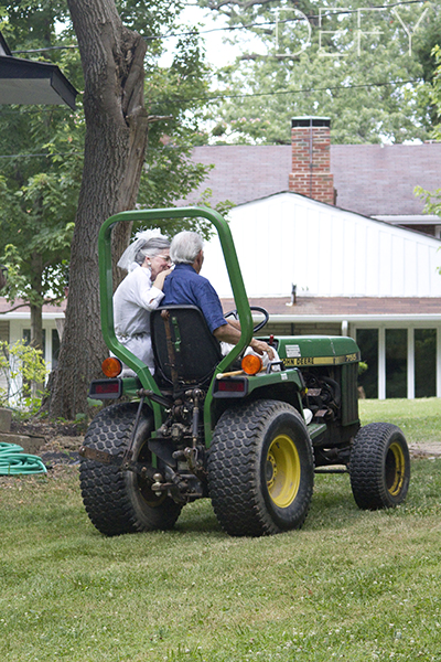
{"label": "red brick chimney rising above the house roof", "polygon": [[291,120],[292,172],[289,190],[320,202],[335,204],[331,174],[331,119],[293,117]]}

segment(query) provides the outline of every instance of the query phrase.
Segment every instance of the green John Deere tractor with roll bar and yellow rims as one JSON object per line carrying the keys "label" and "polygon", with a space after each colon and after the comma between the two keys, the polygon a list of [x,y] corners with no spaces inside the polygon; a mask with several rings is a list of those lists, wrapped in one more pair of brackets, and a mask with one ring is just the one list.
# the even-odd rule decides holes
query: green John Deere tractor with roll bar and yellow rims
{"label": "green John Deere tractor with roll bar and yellow rims", "polygon": [[[114,330],[111,231],[117,223],[204,217],[217,229],[240,321],[227,356],[193,306],[151,313],[154,377]],[[345,337],[266,338],[280,362],[255,372],[243,361],[255,329],[228,224],[216,212],[186,207],[123,212],[99,234],[103,334],[136,376],[106,360],[89,395],[121,399],[103,408],[80,449],[80,487],[93,524],[106,535],[168,530],[182,508],[209,498],[230,535],[259,536],[299,528],[308,514],[314,473],[348,472],[362,509],[398,505],[410,461],[400,429],[361,427],[359,350]],[[265,320],[268,313],[263,312]],[[106,362],[105,362],[106,363]],[[115,363],[117,364],[115,367]]]}

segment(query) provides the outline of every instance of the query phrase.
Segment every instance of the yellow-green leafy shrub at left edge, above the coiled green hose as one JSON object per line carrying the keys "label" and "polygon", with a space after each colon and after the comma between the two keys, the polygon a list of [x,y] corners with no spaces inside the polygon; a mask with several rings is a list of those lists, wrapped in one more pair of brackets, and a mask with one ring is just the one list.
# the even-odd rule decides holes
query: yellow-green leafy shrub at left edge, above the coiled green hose
{"label": "yellow-green leafy shrub at left edge, above the coiled green hose", "polygon": [[0,341],[0,406],[14,406],[21,412],[36,413],[42,393],[34,393],[34,385],[44,383],[47,370],[42,351],[24,341],[9,344]]}

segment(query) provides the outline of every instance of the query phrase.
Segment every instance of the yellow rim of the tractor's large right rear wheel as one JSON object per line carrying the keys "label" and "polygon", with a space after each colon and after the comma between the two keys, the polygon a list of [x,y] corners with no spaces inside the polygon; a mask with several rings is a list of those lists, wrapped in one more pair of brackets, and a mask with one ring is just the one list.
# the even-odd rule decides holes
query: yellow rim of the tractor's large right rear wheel
{"label": "yellow rim of the tractor's large right rear wheel", "polygon": [[288,508],[294,501],[300,476],[300,459],[294,442],[287,435],[279,435],[271,441],[266,465],[268,492],[278,508]]}

